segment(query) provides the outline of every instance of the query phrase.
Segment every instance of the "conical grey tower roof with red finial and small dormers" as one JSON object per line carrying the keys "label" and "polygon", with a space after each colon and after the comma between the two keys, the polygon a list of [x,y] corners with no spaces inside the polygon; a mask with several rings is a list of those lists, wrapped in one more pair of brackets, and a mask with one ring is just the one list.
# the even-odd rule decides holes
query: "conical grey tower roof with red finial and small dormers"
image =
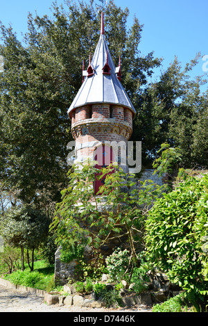
{"label": "conical grey tower roof with red finial and small dormers", "polygon": [[115,67],[107,47],[102,13],[100,39],[92,61],[89,58],[87,71],[83,71],[85,79],[76,97],[73,99],[68,113],[80,106],[97,103],[119,104],[130,108],[133,113],[136,113],[121,81],[119,81],[119,68]]}

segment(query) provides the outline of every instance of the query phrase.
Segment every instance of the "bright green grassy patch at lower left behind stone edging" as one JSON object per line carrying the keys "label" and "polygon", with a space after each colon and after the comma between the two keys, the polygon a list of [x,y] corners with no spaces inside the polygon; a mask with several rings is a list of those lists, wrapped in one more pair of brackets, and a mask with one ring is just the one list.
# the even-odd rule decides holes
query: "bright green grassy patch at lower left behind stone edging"
{"label": "bright green grassy patch at lower left behind stone edging", "polygon": [[47,292],[57,290],[54,284],[54,266],[49,266],[44,260],[34,262],[34,271],[26,265],[24,271],[17,270],[3,277],[13,284],[38,288]]}

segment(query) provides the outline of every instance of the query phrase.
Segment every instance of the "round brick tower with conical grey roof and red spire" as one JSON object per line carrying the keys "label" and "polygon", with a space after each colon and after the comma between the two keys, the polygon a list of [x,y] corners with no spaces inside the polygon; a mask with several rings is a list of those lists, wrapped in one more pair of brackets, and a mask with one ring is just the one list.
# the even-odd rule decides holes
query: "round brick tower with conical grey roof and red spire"
{"label": "round brick tower with conical grey roof and red spire", "polygon": [[[115,67],[107,47],[102,13],[101,35],[94,56],[92,60],[89,56],[87,70],[83,67],[83,84],[68,111],[71,133],[76,141],[76,162],[94,159],[96,150],[100,156],[107,153],[112,159],[114,154],[102,146],[111,142],[126,144],[132,134],[135,113],[121,84],[121,60],[119,67]],[[100,159],[96,157],[96,161]]]}

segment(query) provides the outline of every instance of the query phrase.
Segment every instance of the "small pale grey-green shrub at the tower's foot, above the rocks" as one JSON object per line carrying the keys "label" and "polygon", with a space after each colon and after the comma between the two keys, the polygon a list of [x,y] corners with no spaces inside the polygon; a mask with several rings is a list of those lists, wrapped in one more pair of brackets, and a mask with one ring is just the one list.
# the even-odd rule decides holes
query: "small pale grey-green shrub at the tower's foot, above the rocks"
{"label": "small pale grey-green shrub at the tower's foot, above the rocks", "polygon": [[129,260],[130,254],[128,250],[125,249],[122,251],[120,248],[114,250],[114,252],[105,259],[107,271],[114,281],[120,281],[123,278],[123,274],[128,268]]}

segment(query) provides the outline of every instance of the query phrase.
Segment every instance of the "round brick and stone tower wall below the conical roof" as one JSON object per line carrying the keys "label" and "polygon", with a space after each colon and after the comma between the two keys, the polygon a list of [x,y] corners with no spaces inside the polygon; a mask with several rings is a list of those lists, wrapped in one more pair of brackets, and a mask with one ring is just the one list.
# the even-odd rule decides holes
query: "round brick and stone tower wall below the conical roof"
{"label": "round brick and stone tower wall below the conical roof", "polygon": [[76,108],[69,116],[78,162],[87,158],[94,160],[98,145],[107,142],[127,144],[132,134],[132,112],[120,105],[87,105]]}

